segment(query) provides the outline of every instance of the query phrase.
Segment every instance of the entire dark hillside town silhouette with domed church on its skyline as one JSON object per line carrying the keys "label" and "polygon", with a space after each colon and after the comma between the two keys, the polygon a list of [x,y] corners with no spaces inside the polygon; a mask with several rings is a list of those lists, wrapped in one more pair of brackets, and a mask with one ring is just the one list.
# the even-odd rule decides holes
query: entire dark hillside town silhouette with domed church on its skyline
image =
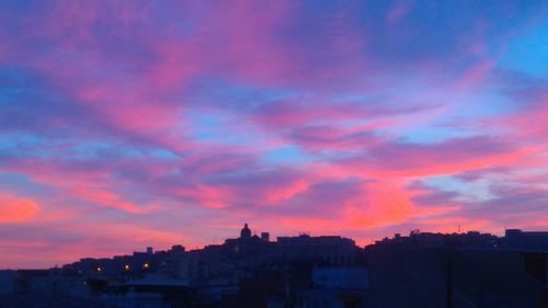
{"label": "entire dark hillside town silhouette with domed church on its skyline", "polygon": [[[253,235],[0,271],[0,307],[548,307],[548,232]],[[80,306],[76,303],[82,303]]]}

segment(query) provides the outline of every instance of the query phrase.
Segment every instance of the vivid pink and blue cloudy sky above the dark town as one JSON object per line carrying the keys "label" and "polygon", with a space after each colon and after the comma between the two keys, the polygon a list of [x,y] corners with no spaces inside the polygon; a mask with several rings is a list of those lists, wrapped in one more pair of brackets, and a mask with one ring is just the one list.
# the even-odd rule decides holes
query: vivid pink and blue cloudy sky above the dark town
{"label": "vivid pink and blue cloudy sky above the dark town", "polygon": [[547,1],[0,2],[0,269],[548,229]]}

